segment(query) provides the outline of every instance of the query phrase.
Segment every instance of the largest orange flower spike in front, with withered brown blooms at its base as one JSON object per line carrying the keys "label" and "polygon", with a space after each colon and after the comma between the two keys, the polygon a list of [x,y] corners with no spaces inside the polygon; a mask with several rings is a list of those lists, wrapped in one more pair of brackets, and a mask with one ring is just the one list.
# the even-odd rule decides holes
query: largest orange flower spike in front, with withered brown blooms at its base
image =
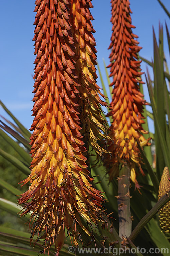
{"label": "largest orange flower spike in front, with withered brown blooms at its base", "polygon": [[[31,238],[45,239],[44,248],[63,246],[65,228],[77,246],[80,233],[87,234],[80,216],[90,225],[102,215],[101,193],[93,188],[80,133],[78,99],[81,84],[75,74],[75,47],[69,22],[69,1],[35,1],[35,93],[31,136],[29,190],[18,203],[22,215],[31,213]],[[36,241],[37,241],[36,240]]]}

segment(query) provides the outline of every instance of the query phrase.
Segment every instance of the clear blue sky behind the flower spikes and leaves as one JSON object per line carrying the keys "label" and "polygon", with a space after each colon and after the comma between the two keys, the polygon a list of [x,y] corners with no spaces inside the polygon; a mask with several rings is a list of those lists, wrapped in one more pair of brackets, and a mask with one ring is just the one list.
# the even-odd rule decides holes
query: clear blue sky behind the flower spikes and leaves
{"label": "clear blue sky behind the flower spikes and leaves", "polygon": [[[1,101],[28,129],[32,123],[31,109],[33,107],[32,90],[34,81],[33,55],[34,42],[34,17],[35,1],[8,0],[2,1],[0,10],[1,41],[0,41],[0,77],[1,77]],[[167,9],[170,10],[170,1],[162,0]],[[96,33],[97,61],[100,65],[106,82],[103,68],[103,58],[106,65],[109,64],[109,51],[107,50],[111,38],[111,4],[110,0],[93,0],[94,8],[91,13],[95,20],[92,22]],[[153,56],[153,32],[158,37],[159,21],[163,24],[165,38],[165,55],[169,62],[169,52],[166,42],[165,20],[170,30],[170,20],[165,14],[157,0],[130,0],[130,7],[133,12],[132,24],[136,26],[133,30],[139,36],[138,41],[143,49],[140,55],[151,60]],[[146,70],[145,63],[142,70]],[[100,79],[97,80],[99,86]],[[146,85],[144,85],[146,87]],[[146,92],[146,90],[145,90]],[[147,94],[147,92],[146,92]],[[5,115],[0,107],[0,114]],[[152,127],[151,127],[152,129]]]}

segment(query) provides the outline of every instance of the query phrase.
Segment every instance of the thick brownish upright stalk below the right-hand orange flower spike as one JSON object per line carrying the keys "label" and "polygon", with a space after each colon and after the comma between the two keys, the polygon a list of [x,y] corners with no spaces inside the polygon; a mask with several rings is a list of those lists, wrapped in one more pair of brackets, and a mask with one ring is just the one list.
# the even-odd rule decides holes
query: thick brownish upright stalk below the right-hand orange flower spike
{"label": "thick brownish upright stalk below the right-hand orange flower spike", "polygon": [[130,236],[132,231],[132,218],[130,211],[130,168],[124,165],[121,168],[118,178],[118,215],[119,215],[119,236]]}

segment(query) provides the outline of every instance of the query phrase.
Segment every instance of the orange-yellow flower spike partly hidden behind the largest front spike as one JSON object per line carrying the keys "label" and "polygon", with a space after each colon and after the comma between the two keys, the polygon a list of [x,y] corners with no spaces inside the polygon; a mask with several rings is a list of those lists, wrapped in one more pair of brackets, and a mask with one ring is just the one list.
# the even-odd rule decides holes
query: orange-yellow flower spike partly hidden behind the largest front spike
{"label": "orange-yellow flower spike partly hidden behind the largest front spike", "polygon": [[[102,156],[106,149],[102,148],[102,139],[107,138],[106,120],[102,116],[101,105],[106,106],[106,102],[99,97],[104,97],[100,92],[100,87],[96,84],[96,49],[95,39],[92,33],[95,32],[91,24],[92,17],[89,8],[92,8],[90,0],[71,0],[71,30],[75,41],[75,61],[76,74],[81,84],[78,103],[81,106],[80,120],[82,124],[82,134],[86,139],[85,145],[91,145],[97,156]],[[84,121],[86,120],[86,122]],[[101,145],[99,141],[101,137]]]}

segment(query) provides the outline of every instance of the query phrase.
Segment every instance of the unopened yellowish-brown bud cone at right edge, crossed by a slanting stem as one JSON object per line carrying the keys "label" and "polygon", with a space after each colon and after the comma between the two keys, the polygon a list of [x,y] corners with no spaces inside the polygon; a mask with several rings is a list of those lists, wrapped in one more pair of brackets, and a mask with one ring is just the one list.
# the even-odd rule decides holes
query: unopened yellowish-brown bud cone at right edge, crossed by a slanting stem
{"label": "unopened yellowish-brown bud cone at right edge, crossed by a slanting stem", "polygon": [[[164,167],[159,185],[158,199],[170,190],[170,175],[168,167]],[[165,233],[170,233],[170,202],[166,203],[159,211],[160,226]]]}

